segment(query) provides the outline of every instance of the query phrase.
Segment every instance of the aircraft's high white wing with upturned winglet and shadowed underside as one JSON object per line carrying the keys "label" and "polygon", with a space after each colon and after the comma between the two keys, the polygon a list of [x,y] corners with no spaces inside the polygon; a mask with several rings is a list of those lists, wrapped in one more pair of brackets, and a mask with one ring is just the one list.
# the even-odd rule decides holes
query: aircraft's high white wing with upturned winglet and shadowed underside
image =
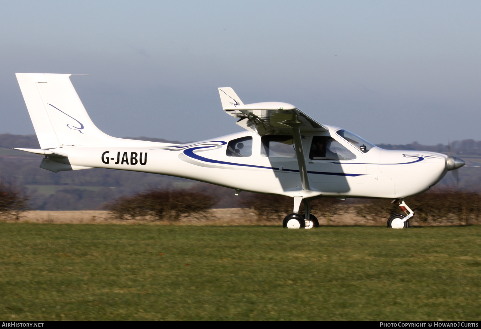
{"label": "aircraft's high white wing with upturned winglet and shadowed underside", "polygon": [[234,90],[227,87],[219,88],[219,94],[224,112],[238,118],[239,126],[260,136],[290,134],[294,122],[301,133],[328,131],[292,104],[278,101],[244,104]]}

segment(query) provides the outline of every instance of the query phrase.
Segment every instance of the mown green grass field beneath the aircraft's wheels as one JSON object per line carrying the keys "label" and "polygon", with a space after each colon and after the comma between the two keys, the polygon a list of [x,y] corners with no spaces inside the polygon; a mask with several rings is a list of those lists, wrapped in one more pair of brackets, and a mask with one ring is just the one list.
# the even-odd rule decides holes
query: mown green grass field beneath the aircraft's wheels
{"label": "mown green grass field beneath the aircraft's wheels", "polygon": [[481,227],[0,223],[3,320],[480,320]]}

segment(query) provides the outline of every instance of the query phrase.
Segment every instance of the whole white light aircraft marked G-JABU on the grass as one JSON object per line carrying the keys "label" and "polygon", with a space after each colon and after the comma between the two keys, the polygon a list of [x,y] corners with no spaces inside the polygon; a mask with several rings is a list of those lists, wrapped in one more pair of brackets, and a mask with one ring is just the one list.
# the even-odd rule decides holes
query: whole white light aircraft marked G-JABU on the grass
{"label": "whole white light aircraft marked G-JABU on the grass", "polygon": [[219,88],[222,109],[244,132],[178,145],[114,138],[90,120],[71,75],[16,76],[41,147],[17,150],[44,155],[41,168],[131,170],[225,186],[236,194],[286,195],[294,204],[283,221],[287,228],[318,226],[310,202],[321,197],[393,199],[406,215],[392,215],[387,226],[407,228],[414,213],[404,199],[465,164],[441,153],[383,150],[288,103],[244,104],[231,88]]}

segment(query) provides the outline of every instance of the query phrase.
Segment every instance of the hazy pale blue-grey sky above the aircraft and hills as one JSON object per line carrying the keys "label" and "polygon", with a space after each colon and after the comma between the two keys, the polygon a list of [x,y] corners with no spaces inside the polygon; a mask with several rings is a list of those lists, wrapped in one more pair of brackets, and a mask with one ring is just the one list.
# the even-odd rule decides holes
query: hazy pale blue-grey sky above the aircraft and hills
{"label": "hazy pale blue-grey sky above the aircraft and hills", "polygon": [[116,136],[240,131],[217,87],[374,143],[481,139],[480,1],[2,1],[0,133],[33,133],[14,73],[71,73]]}

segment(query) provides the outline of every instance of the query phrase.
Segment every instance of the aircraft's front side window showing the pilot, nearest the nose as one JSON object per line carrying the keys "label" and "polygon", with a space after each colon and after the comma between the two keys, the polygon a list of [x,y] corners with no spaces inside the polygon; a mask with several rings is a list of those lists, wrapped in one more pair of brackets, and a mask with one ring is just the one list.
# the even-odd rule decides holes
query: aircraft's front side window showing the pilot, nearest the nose
{"label": "aircraft's front side window showing the pilot, nearest the nose", "polygon": [[330,136],[313,136],[309,159],[311,160],[353,160],[356,156],[340,142]]}

